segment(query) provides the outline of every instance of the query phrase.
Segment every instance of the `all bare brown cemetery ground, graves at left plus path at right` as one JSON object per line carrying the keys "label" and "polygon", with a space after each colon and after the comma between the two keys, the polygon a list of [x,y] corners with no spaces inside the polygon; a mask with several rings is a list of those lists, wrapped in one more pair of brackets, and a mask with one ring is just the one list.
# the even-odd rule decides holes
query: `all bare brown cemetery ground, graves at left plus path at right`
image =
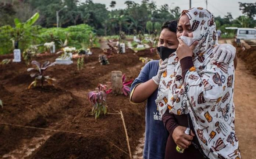
{"label": "all bare brown cemetery ground, graves at left plus path at right", "polygon": [[[224,41],[225,43],[225,41]],[[0,65],[0,123],[40,127],[49,130],[0,125],[0,158],[25,159],[128,159],[125,131],[120,115],[107,114],[95,120],[92,106],[87,98],[89,91],[99,83],[110,81],[111,71],[122,71],[127,80],[135,79],[143,64],[139,57],[157,59],[150,49],[138,51],[127,48],[125,54],[109,58],[109,65],[100,65],[100,48],[92,48],[92,55],[85,57],[85,68],[77,70],[76,61],[71,65],[55,65],[45,75],[56,78],[55,86],[28,90],[33,81],[25,62]],[[248,54],[250,53],[250,54]],[[243,159],[255,158],[256,145],[256,80],[252,63],[255,48],[242,51],[237,48],[238,66],[235,71],[235,129]],[[35,57],[40,63],[54,60],[59,55]],[[13,58],[1,55],[0,61]],[[244,61],[243,61],[243,60]],[[254,63],[255,64],[255,63]],[[124,95],[107,95],[108,112],[121,111],[129,136],[131,151],[136,151],[145,131],[145,102],[129,103]],[[80,134],[77,134],[80,133]],[[119,149],[120,148],[120,149]],[[124,150],[125,152],[123,152]]]}

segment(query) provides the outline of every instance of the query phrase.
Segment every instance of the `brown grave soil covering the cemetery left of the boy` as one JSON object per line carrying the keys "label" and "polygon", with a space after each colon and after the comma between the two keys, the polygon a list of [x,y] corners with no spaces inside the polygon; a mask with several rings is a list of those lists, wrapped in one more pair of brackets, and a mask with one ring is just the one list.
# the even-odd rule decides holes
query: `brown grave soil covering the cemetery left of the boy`
{"label": "brown grave soil covering the cemetery left of the boy", "polygon": [[[87,94],[97,84],[110,81],[110,73],[114,70],[125,73],[127,80],[135,79],[142,66],[141,61],[134,51],[127,49],[125,54],[111,57],[109,65],[100,65],[98,55],[103,54],[103,50],[92,48],[92,52],[93,55],[85,58],[85,68],[81,71],[77,71],[76,59],[72,65],[48,68],[45,75],[57,81],[54,82],[55,87],[46,85],[43,91],[39,86],[27,89],[33,79],[26,72],[28,67],[24,61],[0,65],[2,123],[82,133],[51,132],[51,137],[27,159],[129,158],[111,144],[128,152],[120,115],[102,115],[95,120]],[[56,57],[58,55],[44,55],[34,59],[40,63],[46,60],[54,62]],[[0,56],[0,60],[4,58],[12,58],[12,55]],[[134,151],[145,128],[145,104],[132,105],[124,95],[109,94],[107,105],[109,112],[122,110]],[[0,125],[0,156],[17,149],[24,139],[44,133],[45,130]]]}

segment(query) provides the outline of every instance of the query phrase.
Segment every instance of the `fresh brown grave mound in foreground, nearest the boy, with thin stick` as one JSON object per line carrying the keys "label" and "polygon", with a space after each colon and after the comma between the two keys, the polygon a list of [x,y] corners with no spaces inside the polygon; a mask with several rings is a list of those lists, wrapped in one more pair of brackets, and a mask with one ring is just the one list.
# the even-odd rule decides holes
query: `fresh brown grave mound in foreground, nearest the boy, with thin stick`
{"label": "fresh brown grave mound in foreground, nearest the boy, with thin stick", "polygon": [[[118,100],[117,100],[118,99]],[[138,140],[138,134],[142,134],[144,128],[144,106],[129,104],[128,99],[110,94],[107,97],[107,105],[110,112],[122,109],[125,124],[132,151]],[[131,112],[132,110],[132,112]],[[84,134],[63,134],[57,133],[49,138],[46,143],[38,149],[29,159],[44,158],[74,158],[74,159],[104,159],[104,158],[124,158],[129,156],[120,151],[117,145],[128,152],[125,132],[120,115],[106,115],[100,119],[90,116],[91,108],[86,106],[85,110],[79,113],[72,122],[62,123],[62,129],[75,131]],[[113,112],[115,113],[115,112]],[[87,116],[84,118],[84,116]],[[141,120],[142,119],[142,120]],[[110,143],[111,142],[111,143]]]}

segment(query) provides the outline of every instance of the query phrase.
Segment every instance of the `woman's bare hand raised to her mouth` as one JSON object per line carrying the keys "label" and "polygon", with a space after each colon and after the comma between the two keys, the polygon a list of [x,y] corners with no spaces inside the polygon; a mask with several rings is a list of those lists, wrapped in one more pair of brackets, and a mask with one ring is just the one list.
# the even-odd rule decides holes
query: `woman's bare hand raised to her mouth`
{"label": "woman's bare hand raised to her mouth", "polygon": [[181,39],[178,39],[178,40],[179,40],[179,46],[177,48],[176,53],[177,53],[177,57],[179,58],[179,60],[181,60],[184,57],[188,57],[188,56],[192,57],[193,50],[196,47],[196,45],[198,44],[198,41],[194,41],[191,46],[188,46]]}

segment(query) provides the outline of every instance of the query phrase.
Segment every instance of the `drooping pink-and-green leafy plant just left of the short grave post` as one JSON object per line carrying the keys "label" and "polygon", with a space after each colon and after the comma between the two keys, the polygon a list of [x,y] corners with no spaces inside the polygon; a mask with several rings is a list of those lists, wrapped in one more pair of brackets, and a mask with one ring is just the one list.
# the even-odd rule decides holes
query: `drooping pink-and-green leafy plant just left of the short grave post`
{"label": "drooping pink-and-green leafy plant just left of the short grave post", "polygon": [[88,99],[92,104],[92,114],[95,115],[95,119],[99,118],[100,113],[103,112],[104,115],[107,113],[106,89],[106,85],[99,84],[94,91],[88,93]]}

